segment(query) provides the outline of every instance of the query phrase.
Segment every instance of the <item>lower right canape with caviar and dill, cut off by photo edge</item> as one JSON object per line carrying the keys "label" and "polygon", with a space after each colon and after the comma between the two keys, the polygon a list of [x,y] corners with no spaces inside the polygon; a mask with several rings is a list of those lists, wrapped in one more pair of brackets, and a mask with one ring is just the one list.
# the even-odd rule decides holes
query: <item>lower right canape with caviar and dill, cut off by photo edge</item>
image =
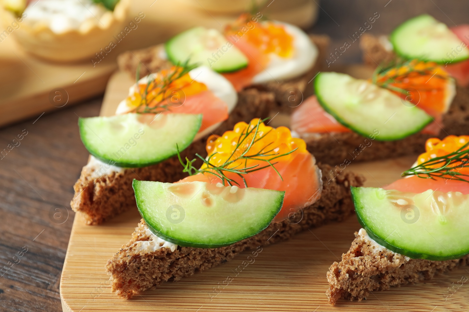
{"label": "lower right canape with caviar and dill, cut off by photo edge", "polygon": [[350,250],[327,273],[329,303],[431,279],[469,264],[469,136],[431,138],[404,178],[352,187],[358,221]]}

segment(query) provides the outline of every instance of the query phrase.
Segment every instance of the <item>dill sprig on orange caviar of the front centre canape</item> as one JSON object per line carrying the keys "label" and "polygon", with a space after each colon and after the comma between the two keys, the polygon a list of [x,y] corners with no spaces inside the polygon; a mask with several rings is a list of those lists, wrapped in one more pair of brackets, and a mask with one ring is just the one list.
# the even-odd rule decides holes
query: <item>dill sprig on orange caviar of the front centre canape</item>
{"label": "dill sprig on orange caviar of the front centre canape", "polygon": [[[249,174],[251,172],[254,172],[254,171],[257,171],[257,170],[261,170],[261,169],[264,169],[264,168],[267,168],[267,167],[272,167],[273,170],[275,170],[275,172],[280,176],[280,179],[283,181],[282,179],[282,176],[280,175],[280,173],[278,172],[278,170],[274,167],[275,164],[277,164],[277,162],[274,162],[272,163],[272,160],[275,160],[279,157],[282,157],[282,156],[286,156],[292,152],[295,152],[297,148],[295,148],[294,150],[291,150],[289,152],[286,152],[286,153],[283,153],[283,154],[279,154],[278,152],[274,152],[274,150],[277,148],[277,147],[274,147],[274,148],[271,148],[269,147],[270,145],[272,145],[273,142],[265,145],[259,152],[255,153],[255,154],[249,154],[248,155],[248,152],[250,151],[251,147],[257,143],[259,140],[265,138],[265,136],[267,134],[270,133],[271,130],[267,131],[265,134],[259,136],[258,137],[258,132],[259,132],[259,125],[261,123],[263,123],[265,120],[267,120],[268,118],[265,118],[263,120],[260,120],[257,122],[257,125],[256,127],[251,128],[251,123],[248,124],[247,128],[242,130],[241,131],[241,135],[239,136],[238,138],[238,142],[233,150],[233,152],[231,153],[230,157],[228,157],[227,161],[225,161],[221,166],[216,166],[216,165],[213,165],[210,160],[212,159],[212,157],[217,154],[217,152],[214,152],[213,154],[211,154],[210,156],[207,156],[207,158],[204,158],[202,156],[200,156],[198,153],[196,154],[197,158],[202,160],[204,162],[204,164],[207,166],[207,168],[204,168],[204,169],[197,169],[196,167],[194,167],[192,164],[197,160],[197,158],[193,159],[193,160],[189,160],[187,157],[186,157],[186,162],[184,163],[184,161],[182,161],[181,159],[181,154],[179,152],[179,147],[177,147],[177,155],[178,155],[178,158],[179,158],[179,161],[181,162],[181,165],[184,167],[184,169],[182,170],[182,172],[187,172],[189,175],[194,175],[194,174],[213,174],[217,177],[219,177],[219,179],[222,181],[222,184],[223,185],[226,185],[226,183],[230,186],[233,186],[233,183],[236,183],[239,185],[238,182],[230,179],[227,177],[226,173],[234,173],[234,174],[237,174],[238,176],[240,176],[242,178],[242,181],[244,183],[244,187],[248,187],[248,184],[246,183],[246,179],[244,179],[244,174]],[[244,131],[246,131],[244,133]],[[249,137],[250,135],[254,133],[254,139],[250,140],[249,142]],[[249,144],[247,146],[247,148],[241,152],[241,151],[238,151],[238,148],[241,146],[241,145],[246,145],[246,144]],[[271,148],[271,149],[269,149]],[[239,155],[238,155],[239,153]],[[264,158],[261,158],[261,157],[267,157],[267,159],[264,159]],[[238,160],[242,160],[240,162],[240,164],[236,165],[235,167],[229,167],[231,164],[233,164],[235,161],[238,161]],[[265,163],[267,163],[265,166],[260,166],[260,165],[254,165],[254,166],[247,166],[247,161],[248,160],[259,160],[259,161],[264,161]],[[242,163],[244,163],[244,167],[242,166]],[[259,167],[260,166],[260,167]]]}

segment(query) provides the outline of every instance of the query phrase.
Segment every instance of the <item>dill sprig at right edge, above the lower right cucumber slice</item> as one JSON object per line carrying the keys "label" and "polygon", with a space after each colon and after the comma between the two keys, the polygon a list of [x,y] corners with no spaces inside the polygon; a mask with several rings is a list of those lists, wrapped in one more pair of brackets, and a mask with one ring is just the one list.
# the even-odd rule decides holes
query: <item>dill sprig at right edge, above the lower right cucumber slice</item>
{"label": "dill sprig at right edge, above the lower right cucumber slice", "polygon": [[[402,173],[402,176],[416,175],[419,178],[433,179],[445,178],[469,182],[469,174],[459,172],[469,167],[469,142],[454,152],[427,160],[420,165],[412,167]],[[436,167],[435,166],[439,166]],[[457,170],[455,170],[457,169]],[[468,178],[463,178],[468,177]]]}

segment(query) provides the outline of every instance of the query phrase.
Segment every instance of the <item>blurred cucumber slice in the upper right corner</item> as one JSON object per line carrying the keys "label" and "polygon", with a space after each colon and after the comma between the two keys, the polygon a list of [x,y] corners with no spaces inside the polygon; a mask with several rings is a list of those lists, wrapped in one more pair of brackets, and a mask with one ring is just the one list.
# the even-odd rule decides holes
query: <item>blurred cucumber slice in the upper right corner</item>
{"label": "blurred cucumber slice in the upper right corner", "polygon": [[465,44],[448,27],[430,15],[403,22],[391,33],[394,51],[404,58],[418,58],[439,64],[457,63],[469,58]]}

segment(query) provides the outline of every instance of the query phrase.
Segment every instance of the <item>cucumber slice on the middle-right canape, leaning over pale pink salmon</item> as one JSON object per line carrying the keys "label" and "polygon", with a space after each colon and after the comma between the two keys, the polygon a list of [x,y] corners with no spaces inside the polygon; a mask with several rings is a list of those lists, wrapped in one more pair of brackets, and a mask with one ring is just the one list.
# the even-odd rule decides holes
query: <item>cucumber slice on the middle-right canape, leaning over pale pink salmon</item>
{"label": "cucumber slice on the middle-right canape, leaning over pale pink salmon", "polygon": [[408,137],[433,120],[391,91],[347,74],[319,73],[314,89],[319,104],[338,122],[378,141]]}

